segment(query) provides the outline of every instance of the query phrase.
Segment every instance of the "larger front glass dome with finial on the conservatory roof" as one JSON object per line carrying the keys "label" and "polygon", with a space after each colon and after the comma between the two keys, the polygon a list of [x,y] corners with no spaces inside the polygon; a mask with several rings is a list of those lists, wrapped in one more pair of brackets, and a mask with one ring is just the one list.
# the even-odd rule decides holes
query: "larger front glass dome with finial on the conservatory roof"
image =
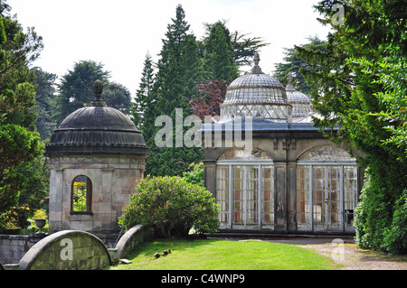
{"label": "larger front glass dome with finial on the conservatory roof", "polygon": [[286,89],[277,79],[263,73],[256,53],[251,73],[234,79],[221,105],[221,118],[252,117],[288,122],[291,118]]}

